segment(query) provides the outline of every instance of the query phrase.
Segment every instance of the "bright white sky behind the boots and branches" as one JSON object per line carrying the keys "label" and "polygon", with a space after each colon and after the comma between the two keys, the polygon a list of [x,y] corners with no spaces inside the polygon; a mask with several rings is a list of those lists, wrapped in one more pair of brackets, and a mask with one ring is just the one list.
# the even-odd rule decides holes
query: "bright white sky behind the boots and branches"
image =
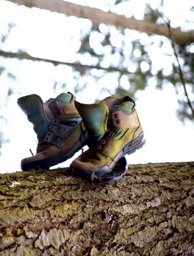
{"label": "bright white sky behind the boots and branches", "polygon": [[[72,2],[79,4],[79,1]],[[143,7],[141,10],[139,2],[142,3],[142,1],[135,0],[127,1],[125,4],[128,5],[128,8],[126,6],[125,8],[122,7],[119,10],[120,14],[129,16],[134,14],[136,18],[141,18]],[[193,1],[177,2],[171,0],[163,2],[163,11],[168,18],[171,18],[171,25],[179,26],[180,23],[183,24],[185,17],[191,19],[187,16],[187,12],[190,10]],[[152,8],[157,8],[160,1],[152,0],[150,3]],[[103,0],[85,0],[82,1],[82,4],[106,10]],[[138,11],[136,7],[138,7]],[[31,12],[31,10],[23,12],[23,9],[24,7],[20,7],[16,10],[14,4],[0,1],[0,31],[4,31],[7,21],[11,20],[12,23],[18,24],[13,29],[6,47],[3,45],[2,48],[12,51],[16,51],[18,48],[27,49],[28,53],[34,56],[74,61],[74,49],[79,47],[77,40],[74,40],[79,38],[79,29],[81,28],[79,20],[77,18],[67,20],[63,18],[63,15],[57,16],[56,14],[47,18],[47,12],[40,10],[34,10],[36,12],[36,19],[34,19],[34,12]],[[123,13],[123,10],[130,10],[131,13]],[[74,30],[66,29],[65,33],[61,35],[61,30],[69,26],[70,20],[74,23],[74,26],[72,26]],[[85,29],[88,26],[90,26],[90,23],[85,20]],[[52,37],[50,36],[51,27],[54,28]],[[133,35],[136,36],[136,33],[134,32]],[[166,49],[168,49],[168,45]],[[153,48],[152,61],[157,64],[158,58],[155,59],[155,54],[158,56],[161,53],[157,52],[157,48],[155,50],[156,52]],[[163,59],[162,54],[160,64],[162,64],[161,59]],[[1,103],[6,102],[9,86],[15,86],[16,91],[15,94],[9,97],[4,108],[1,108],[1,113],[7,119],[7,124],[4,120],[0,121],[1,131],[4,132],[4,138],[10,140],[10,143],[5,143],[1,148],[0,172],[8,173],[20,170],[20,159],[30,156],[29,148],[34,153],[36,151],[36,135],[32,129],[32,124],[27,121],[26,116],[17,105],[18,97],[27,94],[39,94],[45,101],[61,93],[61,89],[55,89],[53,93],[53,77],[61,83],[66,80],[69,81],[65,91],[72,91],[74,82],[71,80],[69,67],[62,65],[55,68],[51,64],[37,63],[35,65],[31,64],[30,61],[23,61],[23,64],[18,65],[16,60],[9,61],[5,59],[1,59],[1,63],[14,71],[17,70],[18,73],[16,82],[7,79],[6,75],[0,77]],[[169,72],[169,69],[166,69],[166,72]],[[113,91],[115,89],[114,79],[116,79],[114,75],[106,75],[96,86],[95,80],[90,78],[90,86],[87,87],[87,91],[81,91],[76,95],[77,100],[92,103],[96,97],[103,99],[109,96],[106,91],[101,92],[101,88],[107,85]],[[80,81],[80,83],[82,82]],[[136,110],[147,143],[136,153],[127,156],[128,163],[193,161],[193,124],[187,122],[183,125],[177,120],[175,111],[178,103],[174,88],[166,85],[163,91],[156,91],[154,81],[150,80],[150,86],[144,91],[138,92],[137,96],[139,99],[136,102]],[[69,166],[72,159],[59,166]]]}

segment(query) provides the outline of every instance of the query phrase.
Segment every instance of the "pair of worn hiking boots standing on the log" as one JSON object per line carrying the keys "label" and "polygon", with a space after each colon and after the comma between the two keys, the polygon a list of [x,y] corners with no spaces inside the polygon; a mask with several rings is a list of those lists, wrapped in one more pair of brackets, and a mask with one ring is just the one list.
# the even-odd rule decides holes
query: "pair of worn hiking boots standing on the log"
{"label": "pair of worn hiking boots standing on the log", "polygon": [[127,170],[125,154],[144,145],[144,133],[130,97],[107,97],[82,104],[70,92],[43,102],[31,94],[18,105],[34,125],[38,138],[36,155],[22,159],[21,169],[49,169],[88,150],[71,162],[71,172],[93,181],[115,181]]}

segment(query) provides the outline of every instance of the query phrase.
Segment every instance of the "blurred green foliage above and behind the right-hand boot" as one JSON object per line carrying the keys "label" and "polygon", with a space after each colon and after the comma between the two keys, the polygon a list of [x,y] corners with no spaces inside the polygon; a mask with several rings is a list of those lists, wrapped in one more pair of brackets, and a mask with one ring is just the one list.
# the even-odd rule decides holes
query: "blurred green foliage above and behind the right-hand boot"
{"label": "blurred green foliage above and behind the right-hand boot", "polygon": [[[120,4],[122,2],[122,0],[115,1],[115,4]],[[194,12],[194,9],[191,11]],[[160,13],[157,10],[152,10],[148,4],[144,11],[144,19],[155,23],[163,23]],[[118,43],[113,42],[113,34],[114,36],[117,34]],[[96,38],[103,38],[101,41],[99,40],[98,48],[93,45],[93,35],[96,35]],[[139,34],[139,37],[141,37],[141,34]],[[115,29],[112,26],[106,26],[106,32],[104,32],[101,29],[101,25],[93,24],[90,31],[88,31],[88,34],[82,35],[82,43],[78,53],[90,55],[90,59],[95,60],[96,65],[100,67],[104,67],[104,63],[106,62],[106,72],[109,72],[112,68],[117,69],[117,71],[115,71],[118,73],[118,84],[117,89],[115,89],[115,95],[117,96],[129,94],[136,99],[136,91],[144,90],[148,86],[150,78],[153,77],[156,79],[156,87],[158,89],[163,89],[163,86],[165,85],[174,86],[179,101],[179,109],[177,110],[178,118],[182,121],[193,119],[192,112],[187,104],[187,98],[183,92],[179,67],[177,66],[173,49],[171,48],[171,53],[165,53],[165,50],[163,50],[166,46],[166,41],[168,41],[168,48],[171,46],[171,40],[157,35],[144,35],[144,38],[147,37],[149,37],[149,39],[147,39],[146,43],[142,43],[141,39],[133,39],[130,49],[127,40],[128,29]],[[169,66],[168,69],[171,69],[170,73],[166,72],[166,67],[154,70],[154,64],[150,59],[150,51],[152,51],[152,47],[155,43],[158,45],[158,50],[163,50],[163,56],[171,56],[171,62],[168,62],[168,58],[166,58],[166,67]],[[194,44],[176,45],[179,59],[182,61],[182,72],[185,78],[187,91],[190,92],[189,96],[191,97],[191,102],[194,102],[193,48]],[[111,61],[114,59],[114,56],[117,56],[117,58],[115,58],[117,61]],[[107,67],[107,59],[110,60],[109,67]],[[158,61],[160,60],[158,59]],[[133,66],[132,70],[131,65]],[[86,72],[88,72],[88,70],[86,70]],[[106,74],[106,72],[104,72],[104,74]],[[81,71],[80,74],[84,75]],[[89,72],[87,75],[89,75]],[[128,83],[125,83],[125,89],[123,88],[122,83],[123,77],[128,78]],[[126,89],[127,84],[128,89]],[[106,89],[106,91],[107,90],[109,89]]]}

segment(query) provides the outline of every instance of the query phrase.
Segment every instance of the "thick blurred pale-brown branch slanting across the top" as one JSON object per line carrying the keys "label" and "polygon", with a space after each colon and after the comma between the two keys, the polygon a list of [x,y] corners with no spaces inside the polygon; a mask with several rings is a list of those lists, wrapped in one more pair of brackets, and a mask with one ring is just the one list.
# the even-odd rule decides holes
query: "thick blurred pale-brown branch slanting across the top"
{"label": "thick blurred pale-brown branch slanting across the top", "polygon": [[[79,4],[73,4],[68,1],[45,1],[45,0],[8,0],[15,4],[23,4],[26,7],[37,7],[40,9],[50,10],[65,15],[73,15],[78,18],[87,18],[93,23],[104,23],[123,29],[135,29],[147,34],[159,34],[169,38],[167,26],[158,25],[150,20],[136,20],[135,18],[126,18],[123,15],[117,15],[112,12],[104,12],[102,10],[85,7]],[[180,29],[171,29],[171,37],[181,44],[190,44],[194,42],[193,32],[184,32]]]}

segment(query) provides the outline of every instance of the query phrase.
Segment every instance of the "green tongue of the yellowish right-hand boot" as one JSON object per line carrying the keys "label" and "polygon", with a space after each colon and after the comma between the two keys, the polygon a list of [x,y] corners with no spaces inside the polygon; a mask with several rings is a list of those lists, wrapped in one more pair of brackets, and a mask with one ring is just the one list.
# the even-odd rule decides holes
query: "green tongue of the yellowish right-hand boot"
{"label": "green tongue of the yellowish right-hand boot", "polygon": [[88,130],[90,144],[98,143],[106,133],[109,110],[103,103],[91,105],[74,102],[85,128]]}

